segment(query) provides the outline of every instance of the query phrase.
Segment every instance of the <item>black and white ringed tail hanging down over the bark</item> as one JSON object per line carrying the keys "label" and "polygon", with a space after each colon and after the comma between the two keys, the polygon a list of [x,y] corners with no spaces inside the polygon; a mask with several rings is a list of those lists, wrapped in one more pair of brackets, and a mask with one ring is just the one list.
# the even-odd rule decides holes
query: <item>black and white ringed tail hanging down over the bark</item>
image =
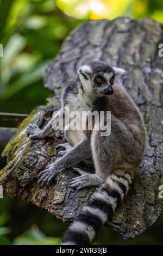
{"label": "black and white ringed tail hanging down over the bark", "polygon": [[94,192],[75,221],[68,228],[61,245],[90,245],[102,225],[111,220],[126,196],[133,174],[116,170],[104,185]]}

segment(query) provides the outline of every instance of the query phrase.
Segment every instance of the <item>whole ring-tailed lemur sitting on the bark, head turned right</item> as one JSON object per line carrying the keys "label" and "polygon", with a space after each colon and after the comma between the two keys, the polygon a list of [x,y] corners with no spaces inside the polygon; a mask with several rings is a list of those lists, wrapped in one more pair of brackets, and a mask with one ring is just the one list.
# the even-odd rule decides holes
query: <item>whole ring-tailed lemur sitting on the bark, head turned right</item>
{"label": "whole ring-tailed lemur sitting on the bark, head turned right", "polygon": [[[53,132],[68,106],[70,112],[111,111],[111,134],[101,136],[100,130],[67,131],[66,144],[59,144],[65,151],[62,157],[39,174],[41,185],[50,184],[63,168],[74,167],[77,163],[92,157],[95,174],[74,168],[80,174],[71,181],[71,186],[82,189],[97,186],[90,202],[72,222],[62,245],[88,245],[102,224],[109,221],[116,208],[126,196],[139,169],[146,144],[145,125],[139,109],[126,90],[114,83],[117,74],[124,74],[120,68],[112,68],[102,62],[90,62],[82,66],[76,79],[68,84],[62,94],[62,107],[43,130],[30,124],[27,132],[30,138],[43,138]],[[64,113],[66,114],[66,113]]]}

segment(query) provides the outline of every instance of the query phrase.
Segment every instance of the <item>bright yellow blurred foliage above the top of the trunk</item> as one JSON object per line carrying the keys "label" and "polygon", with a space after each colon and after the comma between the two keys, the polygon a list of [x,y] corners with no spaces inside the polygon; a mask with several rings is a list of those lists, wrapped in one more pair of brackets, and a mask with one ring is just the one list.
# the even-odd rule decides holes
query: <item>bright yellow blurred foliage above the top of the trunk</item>
{"label": "bright yellow blurred foliage above the top of the trunk", "polygon": [[76,19],[115,19],[150,16],[163,22],[163,3],[160,0],[57,0],[58,7]]}

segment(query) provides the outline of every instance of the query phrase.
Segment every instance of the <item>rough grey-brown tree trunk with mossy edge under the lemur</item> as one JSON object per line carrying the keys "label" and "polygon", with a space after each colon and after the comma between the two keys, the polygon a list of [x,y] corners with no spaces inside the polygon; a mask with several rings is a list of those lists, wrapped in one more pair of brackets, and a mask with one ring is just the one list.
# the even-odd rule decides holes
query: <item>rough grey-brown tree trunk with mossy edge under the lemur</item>
{"label": "rough grey-brown tree trunk with mossy edge under the lemur", "polygon": [[[55,92],[48,99],[59,108],[62,89],[76,74],[80,65],[89,60],[102,60],[126,69],[122,82],[143,115],[147,127],[147,147],[140,172],[135,177],[127,199],[108,225],[124,238],[130,239],[152,225],[162,211],[159,186],[163,185],[163,57],[159,44],[163,27],[151,19],[141,21],[121,17],[113,21],[85,22],[67,37],[57,58],[45,72],[45,87]],[[46,208],[63,221],[73,220],[89,200],[93,188],[72,190],[68,184],[77,175],[71,169],[62,172],[50,187],[37,185],[37,174],[57,159],[55,145],[61,133],[46,139],[29,139],[28,123],[43,127],[51,118],[54,107],[34,110],[18,128],[17,134],[3,152],[7,166],[0,172],[5,196],[30,200]],[[89,167],[84,166],[86,170]],[[92,170],[90,170],[92,171]]]}

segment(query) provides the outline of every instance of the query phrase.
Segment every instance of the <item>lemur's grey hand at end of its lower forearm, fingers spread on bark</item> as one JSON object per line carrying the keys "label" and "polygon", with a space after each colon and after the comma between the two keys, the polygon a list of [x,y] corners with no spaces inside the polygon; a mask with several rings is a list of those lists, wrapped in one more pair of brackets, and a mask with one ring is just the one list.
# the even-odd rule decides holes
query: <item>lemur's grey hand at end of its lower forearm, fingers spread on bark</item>
{"label": "lemur's grey hand at end of its lower forearm, fingers spread on bark", "polygon": [[60,170],[61,169],[55,167],[55,163],[49,164],[45,170],[42,170],[42,172],[39,173],[38,177],[40,179],[38,180],[38,183],[40,183],[41,186],[45,186],[46,184],[49,186]]}

